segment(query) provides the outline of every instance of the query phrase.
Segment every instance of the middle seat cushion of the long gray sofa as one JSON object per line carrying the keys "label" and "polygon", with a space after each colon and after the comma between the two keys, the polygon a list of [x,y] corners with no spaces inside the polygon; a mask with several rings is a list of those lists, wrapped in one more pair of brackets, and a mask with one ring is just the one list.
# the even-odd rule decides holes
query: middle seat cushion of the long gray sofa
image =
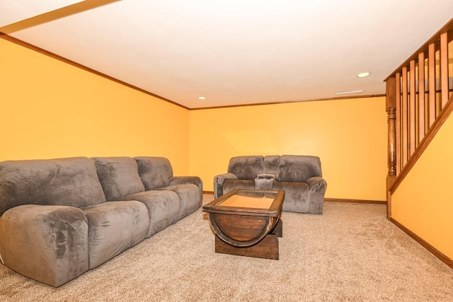
{"label": "middle seat cushion of the long gray sofa", "polygon": [[122,199],[138,200],[147,206],[149,214],[147,237],[153,236],[178,221],[180,203],[178,194],[173,191],[145,191],[129,194]]}

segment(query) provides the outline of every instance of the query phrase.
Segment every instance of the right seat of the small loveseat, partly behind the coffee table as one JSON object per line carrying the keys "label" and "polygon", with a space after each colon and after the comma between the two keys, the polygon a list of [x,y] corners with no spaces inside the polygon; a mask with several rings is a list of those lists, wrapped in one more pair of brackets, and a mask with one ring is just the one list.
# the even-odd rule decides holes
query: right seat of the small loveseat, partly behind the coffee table
{"label": "right seat of the small loveseat, partly behind the coffee table", "polygon": [[309,212],[310,189],[305,182],[274,182],[273,190],[285,191],[283,211]]}

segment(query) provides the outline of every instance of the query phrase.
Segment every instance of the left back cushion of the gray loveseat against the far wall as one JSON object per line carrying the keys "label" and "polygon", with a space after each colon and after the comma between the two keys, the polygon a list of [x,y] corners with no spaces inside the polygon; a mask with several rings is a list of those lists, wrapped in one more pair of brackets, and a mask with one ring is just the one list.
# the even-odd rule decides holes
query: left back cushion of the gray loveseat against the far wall
{"label": "left back cushion of the gray loveseat against the far wall", "polygon": [[235,156],[229,160],[228,172],[239,180],[254,180],[263,173],[263,156]]}

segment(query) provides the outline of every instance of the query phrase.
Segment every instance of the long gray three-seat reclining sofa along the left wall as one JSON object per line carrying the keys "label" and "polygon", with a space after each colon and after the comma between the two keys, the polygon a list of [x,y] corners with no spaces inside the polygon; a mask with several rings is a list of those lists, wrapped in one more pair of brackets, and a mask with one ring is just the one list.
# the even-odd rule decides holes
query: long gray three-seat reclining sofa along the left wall
{"label": "long gray three-seat reclining sofa along the left wall", "polygon": [[202,181],[161,157],[0,163],[0,260],[60,286],[202,205]]}

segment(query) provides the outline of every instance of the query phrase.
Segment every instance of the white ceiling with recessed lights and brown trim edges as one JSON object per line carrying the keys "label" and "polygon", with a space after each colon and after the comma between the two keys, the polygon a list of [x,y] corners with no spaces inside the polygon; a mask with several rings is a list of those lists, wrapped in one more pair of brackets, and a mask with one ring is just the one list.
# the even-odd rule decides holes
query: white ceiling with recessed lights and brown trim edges
{"label": "white ceiling with recessed lights and brown trim edges", "polygon": [[76,2],[0,0],[0,32],[186,108],[384,94],[453,16],[452,0],[91,0],[11,25]]}

